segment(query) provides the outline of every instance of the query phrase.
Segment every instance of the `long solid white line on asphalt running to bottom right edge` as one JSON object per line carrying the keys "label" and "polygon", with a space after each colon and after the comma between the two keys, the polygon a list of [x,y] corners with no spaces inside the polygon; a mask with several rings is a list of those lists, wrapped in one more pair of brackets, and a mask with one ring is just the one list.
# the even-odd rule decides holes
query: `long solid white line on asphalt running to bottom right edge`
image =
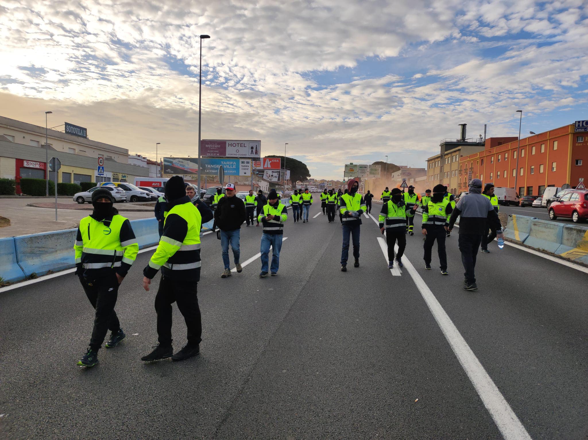
{"label": "long solid white line on asphalt running to bottom right edge", "polygon": [[494,419],[502,436],[507,440],[530,440],[529,433],[524,429],[523,424],[519,421],[512,408],[510,408],[504,396],[500,394],[492,378],[490,378],[482,364],[480,364],[480,361],[476,358],[469,345],[467,345],[467,342],[463,339],[463,336],[459,333],[445,310],[443,310],[443,307],[439,304],[433,292],[430,291],[429,286],[423,281],[419,272],[416,271],[415,267],[406,257],[402,259],[402,262],[419,289],[420,294],[423,296],[423,299],[425,299],[429,310],[433,314],[433,317],[435,317],[435,321],[439,324],[445,339],[447,339],[447,342],[449,342],[449,345],[457,356],[457,360],[459,360],[463,370],[470,378],[472,385],[476,389],[480,399],[482,399],[490,416]]}

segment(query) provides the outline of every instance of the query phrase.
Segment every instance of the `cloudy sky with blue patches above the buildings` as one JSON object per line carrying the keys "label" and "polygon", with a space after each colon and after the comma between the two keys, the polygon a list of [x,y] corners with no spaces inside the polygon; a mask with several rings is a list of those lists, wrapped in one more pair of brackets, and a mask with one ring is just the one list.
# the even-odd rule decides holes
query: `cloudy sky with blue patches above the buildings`
{"label": "cloudy sky with blue patches above the buildings", "polygon": [[319,178],[588,119],[588,0],[0,0],[0,115],[132,153],[261,139]]}

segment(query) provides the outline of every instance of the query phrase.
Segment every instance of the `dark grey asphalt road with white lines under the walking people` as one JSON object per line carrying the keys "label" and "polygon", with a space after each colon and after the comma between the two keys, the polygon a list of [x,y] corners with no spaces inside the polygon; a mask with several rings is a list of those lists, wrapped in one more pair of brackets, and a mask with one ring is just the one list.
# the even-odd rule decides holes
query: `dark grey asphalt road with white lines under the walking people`
{"label": "dark grey asphalt road with white lines under the walking people", "polygon": [[[260,229],[242,227],[242,262]],[[371,218],[346,273],[341,226],[322,214],[289,219],[276,277],[258,278],[255,258],[221,279],[220,242],[205,235],[201,355],[185,362],[139,361],[156,342],[158,278],[141,288],[153,251],[119,291],[128,337],[93,369],[75,366],[93,314],[73,274],[0,290],[0,436],[586,438],[588,275],[493,244],[465,292],[456,232],[447,277],[425,271],[418,234],[392,273]],[[174,319],[179,349],[175,306]]]}

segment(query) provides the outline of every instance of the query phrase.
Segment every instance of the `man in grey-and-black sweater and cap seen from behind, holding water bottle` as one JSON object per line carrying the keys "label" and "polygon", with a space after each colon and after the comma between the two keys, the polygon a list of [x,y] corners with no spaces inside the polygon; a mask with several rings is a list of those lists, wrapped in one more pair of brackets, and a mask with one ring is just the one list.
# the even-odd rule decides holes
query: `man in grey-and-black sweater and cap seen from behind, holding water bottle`
{"label": "man in grey-and-black sweater and cap seen from behind, holding water bottle", "polygon": [[497,236],[502,237],[502,225],[494,206],[482,194],[482,181],[473,179],[470,182],[469,194],[459,198],[459,202],[449,219],[450,232],[459,219],[459,251],[462,253],[462,264],[465,269],[463,289],[473,291],[476,285],[476,255],[482,242],[482,236],[488,233],[488,227],[495,227]]}

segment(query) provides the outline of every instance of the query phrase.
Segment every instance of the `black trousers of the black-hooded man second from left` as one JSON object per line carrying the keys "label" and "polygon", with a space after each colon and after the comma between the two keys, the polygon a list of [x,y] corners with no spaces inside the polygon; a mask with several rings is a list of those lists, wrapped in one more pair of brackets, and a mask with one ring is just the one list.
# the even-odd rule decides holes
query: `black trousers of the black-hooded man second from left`
{"label": "black trousers of the black-hooded man second from left", "polygon": [[162,276],[155,296],[157,312],[157,334],[159,344],[172,345],[172,304],[176,302],[188,328],[188,344],[198,345],[202,341],[202,317],[198,306],[198,283],[180,281]]}

